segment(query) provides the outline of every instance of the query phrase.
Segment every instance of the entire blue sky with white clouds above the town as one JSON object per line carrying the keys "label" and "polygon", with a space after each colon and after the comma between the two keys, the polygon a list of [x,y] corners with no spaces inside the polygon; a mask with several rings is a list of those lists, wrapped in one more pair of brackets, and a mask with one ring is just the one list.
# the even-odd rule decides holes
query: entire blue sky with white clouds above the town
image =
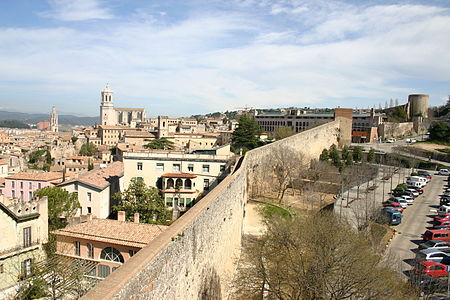
{"label": "entire blue sky with white clouds above the town", "polygon": [[450,94],[450,1],[1,0],[0,110],[190,116]]}

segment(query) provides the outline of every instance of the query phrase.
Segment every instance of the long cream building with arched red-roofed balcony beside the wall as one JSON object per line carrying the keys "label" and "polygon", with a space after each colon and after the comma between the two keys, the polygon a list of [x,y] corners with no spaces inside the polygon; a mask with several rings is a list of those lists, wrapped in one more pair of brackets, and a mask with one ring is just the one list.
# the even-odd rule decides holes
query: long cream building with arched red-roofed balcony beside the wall
{"label": "long cream building with arched red-roofed balcony beside the wall", "polygon": [[123,152],[124,186],[132,178],[159,188],[168,207],[192,206],[199,196],[226,176],[232,157],[230,146],[183,153],[181,151]]}

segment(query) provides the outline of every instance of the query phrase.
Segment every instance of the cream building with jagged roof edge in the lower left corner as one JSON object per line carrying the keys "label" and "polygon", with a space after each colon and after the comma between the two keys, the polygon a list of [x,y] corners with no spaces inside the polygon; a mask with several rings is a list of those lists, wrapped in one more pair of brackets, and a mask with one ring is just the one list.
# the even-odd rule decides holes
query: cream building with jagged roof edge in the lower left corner
{"label": "cream building with jagged roof edge in the lower left corner", "polygon": [[0,291],[26,279],[32,264],[45,257],[47,224],[46,197],[21,203],[0,195]]}

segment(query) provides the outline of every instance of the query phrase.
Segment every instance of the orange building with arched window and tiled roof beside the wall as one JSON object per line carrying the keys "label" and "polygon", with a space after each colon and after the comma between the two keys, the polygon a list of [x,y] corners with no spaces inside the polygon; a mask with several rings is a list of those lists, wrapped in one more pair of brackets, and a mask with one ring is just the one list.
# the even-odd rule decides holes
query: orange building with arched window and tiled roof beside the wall
{"label": "orange building with arched window and tiled roof beside the wall", "polygon": [[125,212],[118,213],[118,220],[92,219],[53,231],[59,255],[81,259],[96,264],[89,277],[103,279],[152,242],[168,228],[162,225],[125,221]]}

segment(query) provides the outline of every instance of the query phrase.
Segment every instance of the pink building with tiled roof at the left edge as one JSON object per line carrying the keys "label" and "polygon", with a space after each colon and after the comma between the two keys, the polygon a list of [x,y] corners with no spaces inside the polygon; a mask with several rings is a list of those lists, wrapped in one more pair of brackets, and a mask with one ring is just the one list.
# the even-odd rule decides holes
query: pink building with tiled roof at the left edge
{"label": "pink building with tiled roof at the left edge", "polygon": [[5,187],[1,191],[9,198],[17,198],[21,202],[31,201],[36,190],[47,186],[55,186],[63,180],[63,173],[17,173],[5,177]]}

